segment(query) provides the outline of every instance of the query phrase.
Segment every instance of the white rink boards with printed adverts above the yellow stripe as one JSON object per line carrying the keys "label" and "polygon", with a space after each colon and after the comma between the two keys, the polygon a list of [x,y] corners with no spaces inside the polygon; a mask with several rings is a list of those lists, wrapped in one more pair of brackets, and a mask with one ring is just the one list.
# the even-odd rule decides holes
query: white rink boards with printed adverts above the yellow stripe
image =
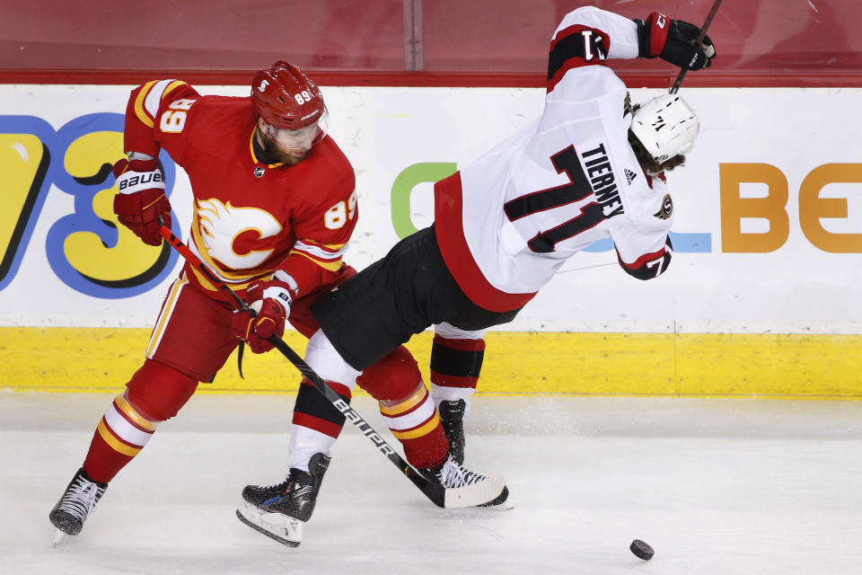
{"label": "white rink boards with printed adverts above the yellow stripe", "polygon": [[[8,144],[0,164],[21,179],[10,193],[29,189],[27,166],[41,153],[38,142],[52,158],[43,203],[29,216],[12,269],[0,279],[0,325],[145,327],[154,321],[174,271],[163,270],[143,292],[88,284],[82,273],[118,279],[110,261],[144,266],[148,260],[136,252],[134,238],[107,247],[92,232],[75,231],[101,229],[95,216],[83,219],[91,209],[112,217],[101,196],[92,208],[82,201],[92,186],[73,177],[92,176],[120,154],[119,132],[111,130],[121,127],[130,87],[0,85],[7,114],[0,138]],[[360,219],[346,260],[357,268],[383,256],[399,234],[430,224],[431,184],[423,179],[467,164],[523,126],[541,111],[542,98],[541,90],[524,88],[323,91],[330,134],[356,168]],[[201,92],[245,95],[248,89],[203,86]],[[632,99],[659,92],[633,90]],[[596,246],[568,261],[506,329],[860,332],[853,287],[862,282],[862,90],[683,87],[681,94],[699,114],[701,134],[687,167],[669,176],[677,190],[669,273],[646,283],[630,279],[609,246]],[[178,171],[172,203],[184,237],[188,185]],[[4,240],[15,223],[7,219]],[[40,305],[13,305],[26,301]]]}

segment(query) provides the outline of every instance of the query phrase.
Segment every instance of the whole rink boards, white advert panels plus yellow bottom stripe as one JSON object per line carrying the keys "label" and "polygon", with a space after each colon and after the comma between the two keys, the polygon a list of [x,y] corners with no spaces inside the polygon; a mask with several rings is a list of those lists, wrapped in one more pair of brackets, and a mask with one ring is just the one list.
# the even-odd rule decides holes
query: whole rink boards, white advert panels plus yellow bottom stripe
{"label": "whole rink boards, white advert panels plus yellow bottom stripe", "polygon": [[[180,268],[172,250],[139,242],[112,213],[110,165],[122,157],[130,88],[0,86],[3,385],[122,385]],[[433,182],[538,115],[542,100],[535,89],[323,92],[330,134],[356,170],[362,217],[346,256],[356,268],[429,225]],[[480,390],[862,396],[852,359],[862,350],[862,91],[683,92],[701,131],[687,165],[668,176],[668,272],[629,278],[608,241],[579,253],[488,336]],[[633,90],[632,100],[657,93]],[[187,240],[189,181],[161,159],[173,229]],[[288,342],[303,348],[294,335]],[[412,344],[420,365],[428,347],[427,334]],[[229,362],[211,389],[295,389],[291,367],[273,367],[278,358],[253,363],[243,381]],[[258,368],[276,369],[278,383],[254,377]]]}

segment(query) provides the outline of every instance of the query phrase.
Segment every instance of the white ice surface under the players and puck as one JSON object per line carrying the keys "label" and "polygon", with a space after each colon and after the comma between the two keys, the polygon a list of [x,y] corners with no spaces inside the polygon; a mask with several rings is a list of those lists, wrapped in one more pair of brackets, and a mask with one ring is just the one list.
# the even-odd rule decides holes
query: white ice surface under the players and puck
{"label": "white ice surface under the players and puck", "polygon": [[[285,473],[286,396],[198,395],[57,548],[111,396],[0,392],[0,573],[858,573],[862,403],[479,397],[467,463],[515,509],[437,509],[349,424],[303,544],[233,515]],[[357,411],[385,431],[374,404]],[[385,433],[389,438],[389,434]],[[392,440],[394,443],[394,440]],[[651,562],[632,539],[655,548]]]}

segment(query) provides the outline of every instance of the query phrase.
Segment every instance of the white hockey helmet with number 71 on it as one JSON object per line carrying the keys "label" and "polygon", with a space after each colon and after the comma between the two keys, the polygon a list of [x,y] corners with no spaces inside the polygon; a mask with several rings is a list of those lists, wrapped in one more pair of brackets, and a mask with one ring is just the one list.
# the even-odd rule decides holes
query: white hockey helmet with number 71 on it
{"label": "white hockey helmet with number 71 on it", "polygon": [[631,118],[632,133],[659,164],[690,152],[699,129],[698,117],[675,93],[647,100]]}

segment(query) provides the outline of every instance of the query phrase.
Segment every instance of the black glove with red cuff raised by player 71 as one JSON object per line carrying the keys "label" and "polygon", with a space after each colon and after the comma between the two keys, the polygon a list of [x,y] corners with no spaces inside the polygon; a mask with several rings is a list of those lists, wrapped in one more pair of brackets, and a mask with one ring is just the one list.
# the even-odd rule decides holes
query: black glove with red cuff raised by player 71
{"label": "black glove with red cuff raised by player 71", "polygon": [[716,48],[708,36],[698,44],[700,29],[689,22],[671,20],[663,13],[649,14],[638,24],[638,56],[661,57],[674,66],[699,70],[712,64]]}

